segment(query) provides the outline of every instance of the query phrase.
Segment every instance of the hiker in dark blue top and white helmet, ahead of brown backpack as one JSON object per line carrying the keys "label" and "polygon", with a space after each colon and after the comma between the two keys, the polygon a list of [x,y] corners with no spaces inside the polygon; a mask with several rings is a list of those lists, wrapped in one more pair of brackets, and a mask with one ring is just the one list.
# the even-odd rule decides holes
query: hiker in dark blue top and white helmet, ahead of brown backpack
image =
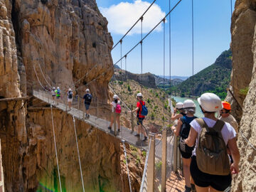
{"label": "hiker in dark blue top and white helmet, ahead of brown backpack", "polygon": [[185,144],[185,139],[188,138],[188,134],[191,129],[190,123],[193,119],[197,117],[194,116],[196,112],[196,105],[192,100],[185,100],[183,103],[183,109],[186,110],[186,114],[183,117],[178,119],[178,124],[176,127],[171,127],[176,136],[180,136],[178,148],[181,151],[182,162],[183,162],[183,174],[185,178],[185,191],[191,191],[191,173],[190,173],[190,164],[191,156],[193,151],[193,146],[190,147]]}

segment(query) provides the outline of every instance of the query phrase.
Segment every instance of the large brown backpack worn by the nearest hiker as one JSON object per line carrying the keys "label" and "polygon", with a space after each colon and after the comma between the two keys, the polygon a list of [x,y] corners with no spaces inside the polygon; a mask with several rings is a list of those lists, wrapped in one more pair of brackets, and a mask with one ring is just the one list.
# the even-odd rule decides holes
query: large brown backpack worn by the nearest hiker
{"label": "large brown backpack worn by the nearest hiker", "polygon": [[225,122],[217,120],[213,128],[209,128],[203,119],[196,119],[201,126],[201,134],[196,148],[198,168],[212,175],[225,176],[230,174],[230,160],[221,130]]}

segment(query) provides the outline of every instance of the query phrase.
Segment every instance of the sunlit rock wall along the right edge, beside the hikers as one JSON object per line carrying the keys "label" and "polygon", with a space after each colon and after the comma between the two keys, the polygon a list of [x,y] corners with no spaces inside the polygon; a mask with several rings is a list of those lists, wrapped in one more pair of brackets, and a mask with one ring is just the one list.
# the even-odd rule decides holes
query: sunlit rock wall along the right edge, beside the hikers
{"label": "sunlit rock wall along the right edge, beside the hikers", "polygon": [[[229,95],[233,114],[241,118],[238,147],[240,149],[240,173],[235,176],[232,191],[256,191],[256,1],[238,0],[232,17],[233,70],[231,87],[242,110]],[[245,90],[242,92],[241,90]],[[252,144],[246,141],[244,137]]]}

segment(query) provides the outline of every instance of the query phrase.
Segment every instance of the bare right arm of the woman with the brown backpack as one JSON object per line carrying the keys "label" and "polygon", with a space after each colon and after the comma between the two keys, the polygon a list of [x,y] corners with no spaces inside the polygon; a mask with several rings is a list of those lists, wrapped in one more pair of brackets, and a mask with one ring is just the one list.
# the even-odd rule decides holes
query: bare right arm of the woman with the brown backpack
{"label": "bare right arm of the woman with the brown backpack", "polygon": [[233,164],[230,165],[231,174],[238,174],[239,172],[239,161],[240,161],[240,153],[238,150],[238,145],[236,143],[236,137],[228,140],[228,148],[230,149],[231,156],[233,158]]}

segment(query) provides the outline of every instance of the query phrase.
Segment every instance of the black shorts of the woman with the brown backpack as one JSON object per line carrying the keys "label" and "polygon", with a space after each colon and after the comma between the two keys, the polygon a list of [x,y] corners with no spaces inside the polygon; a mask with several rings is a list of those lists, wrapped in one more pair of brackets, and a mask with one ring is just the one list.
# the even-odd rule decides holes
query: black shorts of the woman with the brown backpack
{"label": "black shorts of the woman with the brown backpack", "polygon": [[230,174],[228,176],[218,176],[206,174],[200,171],[196,164],[196,156],[192,156],[190,171],[193,181],[195,181],[196,185],[200,187],[211,186],[215,190],[224,191],[231,184]]}

